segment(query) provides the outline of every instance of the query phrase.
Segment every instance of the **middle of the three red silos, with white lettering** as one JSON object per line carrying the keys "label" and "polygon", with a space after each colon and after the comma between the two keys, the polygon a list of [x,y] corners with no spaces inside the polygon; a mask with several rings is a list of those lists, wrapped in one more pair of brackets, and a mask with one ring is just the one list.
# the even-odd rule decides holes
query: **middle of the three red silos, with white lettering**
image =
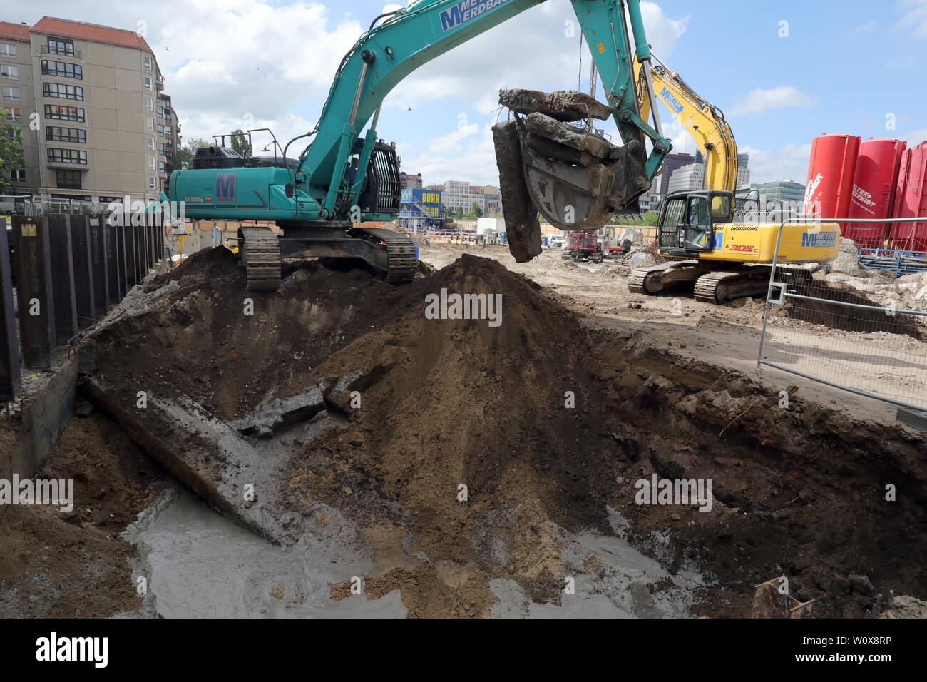
{"label": "middle of the three red silos, with white lettering", "polygon": [[[894,217],[898,167],[907,148],[907,142],[888,137],[870,137],[859,145],[849,217]],[[847,223],[843,234],[861,248],[876,249],[883,245],[891,226],[888,223]]]}

